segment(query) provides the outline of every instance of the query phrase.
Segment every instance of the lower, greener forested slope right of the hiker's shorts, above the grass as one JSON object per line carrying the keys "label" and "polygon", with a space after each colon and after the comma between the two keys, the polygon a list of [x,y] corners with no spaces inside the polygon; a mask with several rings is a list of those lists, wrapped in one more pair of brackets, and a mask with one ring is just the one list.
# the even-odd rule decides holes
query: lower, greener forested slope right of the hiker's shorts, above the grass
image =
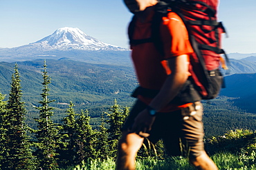
{"label": "lower, greener forested slope right of the hiker's shorts, above the grass", "polygon": [[203,100],[205,137],[221,136],[233,129],[256,129],[256,114],[237,106],[235,98]]}

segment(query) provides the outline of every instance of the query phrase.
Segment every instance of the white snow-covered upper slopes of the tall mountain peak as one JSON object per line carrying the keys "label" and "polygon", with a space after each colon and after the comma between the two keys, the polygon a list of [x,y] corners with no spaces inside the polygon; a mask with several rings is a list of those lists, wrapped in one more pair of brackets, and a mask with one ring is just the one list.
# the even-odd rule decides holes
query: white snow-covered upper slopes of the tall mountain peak
{"label": "white snow-covered upper slopes of the tall mountain peak", "polygon": [[82,32],[79,28],[59,28],[53,34],[35,43],[33,47],[41,50],[113,50],[127,51],[126,48],[103,43]]}

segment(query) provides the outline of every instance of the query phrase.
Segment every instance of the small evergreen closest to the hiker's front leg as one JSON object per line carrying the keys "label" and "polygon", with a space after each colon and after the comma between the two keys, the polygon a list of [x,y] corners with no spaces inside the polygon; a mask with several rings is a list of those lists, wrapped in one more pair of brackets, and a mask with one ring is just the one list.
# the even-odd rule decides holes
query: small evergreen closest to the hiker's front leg
{"label": "small evergreen closest to the hiker's front leg", "polygon": [[107,123],[109,123],[109,129],[107,132],[109,133],[109,151],[110,156],[116,157],[117,147],[118,147],[118,140],[121,136],[121,128],[122,124],[125,122],[125,118],[129,114],[129,107],[124,107],[121,109],[118,105],[117,100],[114,100],[113,106],[109,109],[111,113],[106,113],[109,119]]}

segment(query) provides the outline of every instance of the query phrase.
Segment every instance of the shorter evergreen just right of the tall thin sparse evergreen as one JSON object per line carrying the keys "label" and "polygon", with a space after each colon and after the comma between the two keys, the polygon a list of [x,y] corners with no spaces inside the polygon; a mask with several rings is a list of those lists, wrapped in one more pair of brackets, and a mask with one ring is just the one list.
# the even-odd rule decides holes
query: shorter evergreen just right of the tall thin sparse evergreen
{"label": "shorter evergreen just right of the tall thin sparse evergreen", "polygon": [[66,117],[63,118],[63,125],[61,130],[60,148],[58,149],[60,164],[62,167],[71,166],[75,164],[77,153],[75,152],[77,145],[77,122],[76,118],[78,114],[75,114],[75,105],[70,102],[68,109],[66,110]]}

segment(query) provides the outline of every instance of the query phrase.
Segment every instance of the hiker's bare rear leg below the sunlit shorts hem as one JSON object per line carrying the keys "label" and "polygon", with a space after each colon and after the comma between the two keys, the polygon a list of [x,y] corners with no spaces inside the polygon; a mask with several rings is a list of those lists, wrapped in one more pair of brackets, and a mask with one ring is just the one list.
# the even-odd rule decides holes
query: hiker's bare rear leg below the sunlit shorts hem
{"label": "hiker's bare rear leg below the sunlit shorts hem", "polygon": [[214,162],[210,159],[210,157],[203,151],[203,153],[193,159],[190,159],[190,162],[194,164],[194,167],[199,170],[217,170],[218,167]]}

